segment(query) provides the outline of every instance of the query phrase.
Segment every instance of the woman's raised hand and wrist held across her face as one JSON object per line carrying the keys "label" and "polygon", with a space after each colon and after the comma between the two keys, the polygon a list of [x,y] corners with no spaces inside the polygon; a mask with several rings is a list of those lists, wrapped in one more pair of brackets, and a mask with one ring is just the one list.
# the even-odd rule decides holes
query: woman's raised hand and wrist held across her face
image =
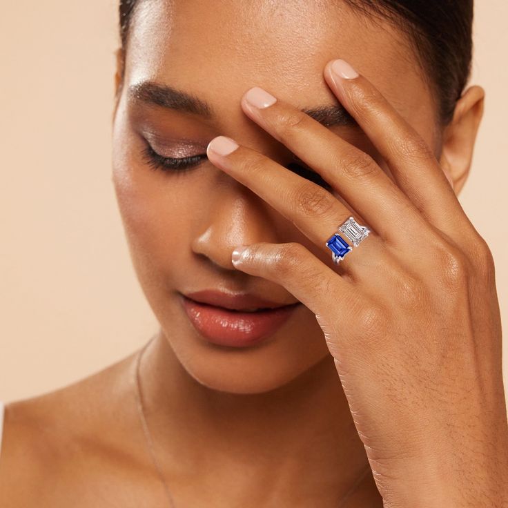
{"label": "woman's raised hand and wrist held across her face", "polygon": [[[329,62],[326,83],[393,177],[291,104],[250,90],[244,113],[332,190],[231,138],[213,139],[208,159],[330,261],[290,242],[237,248],[233,264],[284,286],[315,313],[386,507],[506,506],[491,252],[422,137],[371,82],[348,64],[342,69],[342,77],[334,74]],[[265,100],[248,101],[256,95]],[[351,215],[371,233],[335,265],[325,242]]]}

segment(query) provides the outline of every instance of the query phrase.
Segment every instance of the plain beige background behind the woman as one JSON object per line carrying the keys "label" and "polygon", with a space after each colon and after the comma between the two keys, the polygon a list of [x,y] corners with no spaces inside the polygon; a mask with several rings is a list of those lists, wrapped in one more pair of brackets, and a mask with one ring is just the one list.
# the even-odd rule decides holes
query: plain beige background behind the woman
{"label": "plain beige background behind the woman", "polygon": [[[0,400],[68,384],[157,329],[110,182],[115,0],[17,0],[0,17]],[[477,0],[485,117],[460,202],[496,259],[508,319],[508,3]],[[508,355],[505,351],[505,380]]]}

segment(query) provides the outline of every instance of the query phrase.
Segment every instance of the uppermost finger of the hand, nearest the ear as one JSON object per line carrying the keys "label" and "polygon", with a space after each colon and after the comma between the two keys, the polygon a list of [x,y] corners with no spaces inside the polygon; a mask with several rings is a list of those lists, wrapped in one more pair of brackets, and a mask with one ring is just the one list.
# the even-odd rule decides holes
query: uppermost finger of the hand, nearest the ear
{"label": "uppermost finger of the hand, nearest the ear", "polygon": [[324,78],[387,162],[393,179],[411,202],[444,233],[457,231],[458,219],[466,215],[426,141],[371,81],[344,60],[326,64]]}

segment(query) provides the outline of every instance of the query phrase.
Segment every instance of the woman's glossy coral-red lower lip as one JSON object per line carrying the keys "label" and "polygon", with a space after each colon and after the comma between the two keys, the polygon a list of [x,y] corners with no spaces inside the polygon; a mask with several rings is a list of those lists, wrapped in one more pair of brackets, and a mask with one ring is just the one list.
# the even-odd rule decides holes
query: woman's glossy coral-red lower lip
{"label": "woman's glossy coral-red lower lip", "polygon": [[[222,293],[224,295],[224,293]],[[208,294],[208,296],[210,296]],[[242,300],[228,300],[244,308],[273,305],[274,302],[242,295]],[[279,329],[302,306],[301,302],[280,305],[268,311],[242,312],[208,303],[197,302],[182,295],[182,306],[195,329],[203,338],[219,346],[248,347],[260,344]],[[221,300],[224,302],[224,300]],[[253,304],[254,302],[254,304]]]}

